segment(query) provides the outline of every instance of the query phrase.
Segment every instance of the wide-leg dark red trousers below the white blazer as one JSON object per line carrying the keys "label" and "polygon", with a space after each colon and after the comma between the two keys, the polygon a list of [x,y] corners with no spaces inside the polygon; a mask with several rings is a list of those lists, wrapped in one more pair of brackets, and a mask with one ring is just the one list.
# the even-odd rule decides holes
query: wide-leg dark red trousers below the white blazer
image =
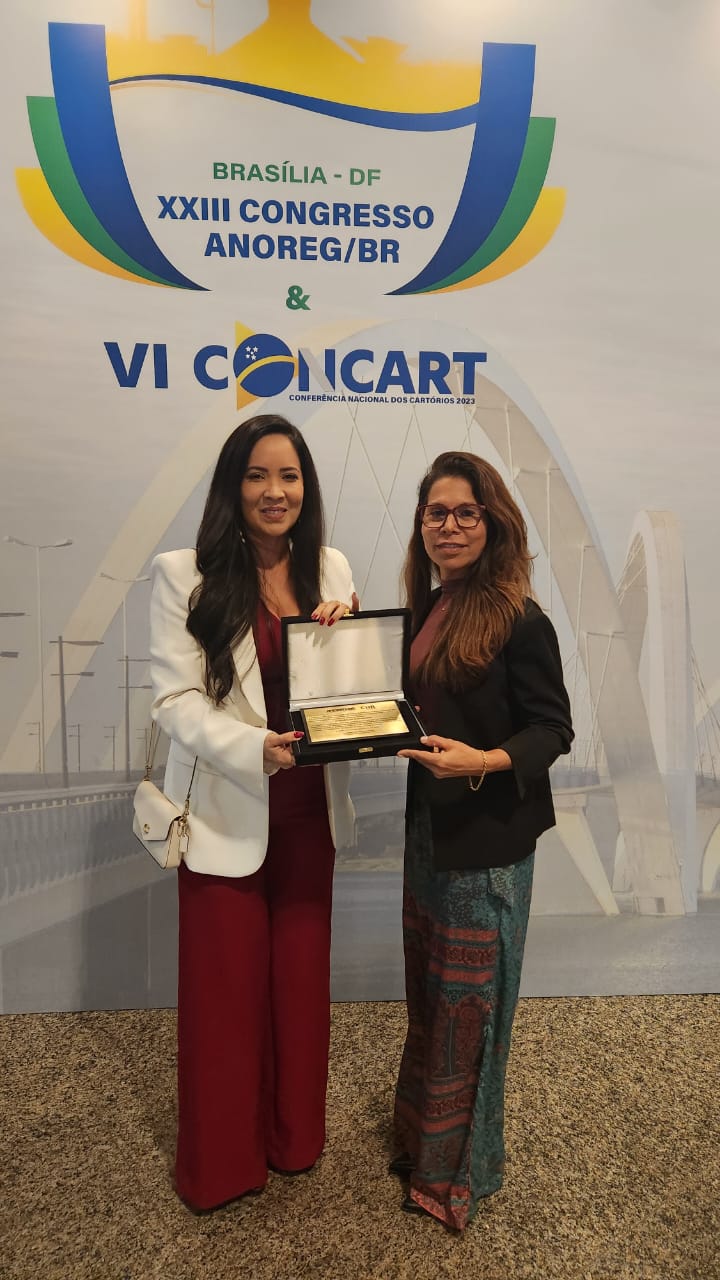
{"label": "wide-leg dark red trousers below the white blazer", "polygon": [[254,876],[181,865],[176,1185],[211,1208],[325,1142],[334,849],[324,805]]}

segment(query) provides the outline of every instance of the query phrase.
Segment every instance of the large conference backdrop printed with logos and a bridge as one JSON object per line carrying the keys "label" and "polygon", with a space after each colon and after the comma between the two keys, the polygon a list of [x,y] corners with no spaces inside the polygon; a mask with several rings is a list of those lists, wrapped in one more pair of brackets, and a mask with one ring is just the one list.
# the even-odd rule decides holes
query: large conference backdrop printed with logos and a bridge
{"label": "large conference backdrop printed with logos and a bridge", "polygon": [[[231,430],[318,465],[365,608],[418,484],[498,467],[557,630],[524,992],[720,977],[711,4],[9,0],[0,1011],[172,1005],[132,836],[149,571]],[[333,995],[400,998],[405,763],[352,765]]]}

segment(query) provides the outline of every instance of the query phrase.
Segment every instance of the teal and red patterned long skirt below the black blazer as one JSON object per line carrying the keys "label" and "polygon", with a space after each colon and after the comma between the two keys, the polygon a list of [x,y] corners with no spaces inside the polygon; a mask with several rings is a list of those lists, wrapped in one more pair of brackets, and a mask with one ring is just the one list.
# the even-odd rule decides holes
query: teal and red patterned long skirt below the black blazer
{"label": "teal and red patterned long skirt below the black blazer", "polygon": [[402,929],[407,1038],[395,1101],[410,1196],[462,1229],[502,1185],[503,1096],[534,854],[512,867],[437,872],[413,787]]}

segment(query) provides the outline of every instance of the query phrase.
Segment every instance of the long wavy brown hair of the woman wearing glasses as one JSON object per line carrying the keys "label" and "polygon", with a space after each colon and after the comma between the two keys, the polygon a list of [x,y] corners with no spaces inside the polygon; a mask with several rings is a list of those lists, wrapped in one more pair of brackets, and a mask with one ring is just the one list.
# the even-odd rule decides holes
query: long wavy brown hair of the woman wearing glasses
{"label": "long wavy brown hair of the woman wearing glasses", "polygon": [[420,507],[445,476],[468,480],[477,503],[486,508],[487,544],[465,577],[421,664],[421,682],[461,689],[480,676],[510,636],[530,595],[532,556],[528,526],[502,476],[477,453],[441,453],[423,476],[418,509],[405,558],[405,593],[414,631],[424,622],[437,568],[423,544]]}

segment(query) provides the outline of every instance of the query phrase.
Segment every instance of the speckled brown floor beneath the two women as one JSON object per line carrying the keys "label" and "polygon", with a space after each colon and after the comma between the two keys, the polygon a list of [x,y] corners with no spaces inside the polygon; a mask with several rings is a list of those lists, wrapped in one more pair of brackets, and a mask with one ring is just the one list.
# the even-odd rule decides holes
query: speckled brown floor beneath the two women
{"label": "speckled brown floor beneath the two women", "polygon": [[302,1178],[174,1197],[174,1012],[0,1019],[1,1280],[720,1280],[720,997],[523,1000],[506,1183],[459,1236],[386,1174],[398,1004],[333,1006]]}

